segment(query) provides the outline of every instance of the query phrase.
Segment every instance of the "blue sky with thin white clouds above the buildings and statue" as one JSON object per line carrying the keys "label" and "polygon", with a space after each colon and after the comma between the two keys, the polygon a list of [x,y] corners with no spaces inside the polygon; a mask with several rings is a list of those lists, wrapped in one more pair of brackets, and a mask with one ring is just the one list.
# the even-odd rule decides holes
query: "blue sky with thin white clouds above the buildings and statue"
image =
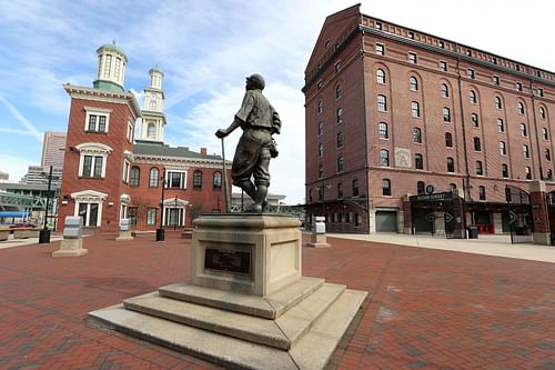
{"label": "blue sky with thin white clouds above the buildings and statue", "polygon": [[[527,1],[361,1],[364,13],[555,71],[555,3]],[[213,132],[233,119],[244,77],[266,78],[280,112],[280,157],[271,192],[304,197],[304,68],[325,17],[340,0],[12,0],[0,12],[0,171],[18,181],[39,164],[44,131],[65,131],[62,84],[92,87],[95,50],[115,42],[129,63],[125,90],[142,104],[148,71],[164,71],[165,142],[220,153]],[[502,7],[498,9],[498,7]],[[455,10],[456,9],[456,10]],[[457,11],[456,17],[452,17]],[[232,158],[240,132],[226,140]]]}

